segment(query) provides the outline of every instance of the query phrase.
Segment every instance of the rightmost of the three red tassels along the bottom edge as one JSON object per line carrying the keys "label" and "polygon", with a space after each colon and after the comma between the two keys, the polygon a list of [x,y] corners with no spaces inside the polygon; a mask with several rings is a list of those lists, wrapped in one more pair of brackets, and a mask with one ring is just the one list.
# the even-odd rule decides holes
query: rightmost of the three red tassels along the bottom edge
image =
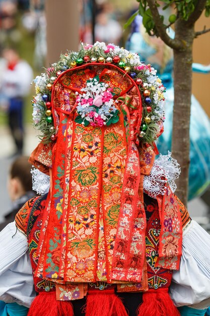
{"label": "rightmost of the three red tassels along the bottom edge", "polygon": [[180,316],[168,289],[149,290],[143,294],[143,303],[137,309],[137,316]]}

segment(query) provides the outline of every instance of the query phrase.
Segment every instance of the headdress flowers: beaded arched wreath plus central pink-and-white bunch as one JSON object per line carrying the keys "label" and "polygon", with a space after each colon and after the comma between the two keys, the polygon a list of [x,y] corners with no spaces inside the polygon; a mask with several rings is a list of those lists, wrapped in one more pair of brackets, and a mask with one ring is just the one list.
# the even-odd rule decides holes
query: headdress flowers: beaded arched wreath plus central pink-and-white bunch
{"label": "headdress flowers: beaded arched wreath plus central pink-and-white bunch", "polygon": [[[57,63],[52,64],[50,68],[45,70],[45,73],[34,79],[36,95],[32,100],[32,116],[33,126],[40,131],[39,138],[45,143],[56,139],[56,130],[53,125],[51,111],[51,90],[54,81],[63,71],[88,63],[113,64],[124,70],[135,81],[141,92],[143,104],[142,124],[138,135],[142,143],[153,143],[160,135],[165,119],[165,98],[163,94],[165,88],[161,79],[156,76],[156,70],[151,65],[145,65],[139,60],[137,54],[132,54],[128,50],[114,44],[106,45],[103,42],[96,42],[94,45],[82,43],[79,52],[69,51],[65,55],[61,55]],[[93,85],[94,82],[90,83],[89,86],[91,84]],[[112,91],[107,89],[106,93],[104,93],[103,84],[97,82],[97,85],[97,88],[101,89],[101,94],[96,95],[94,99],[96,105],[94,111],[89,111],[88,114],[85,113],[84,107],[83,109],[81,108],[81,104],[84,104],[86,101],[82,95],[77,96],[78,123],[81,122],[84,125],[92,123],[92,125],[100,126],[117,122],[117,110],[115,107],[112,107]],[[90,89],[87,89],[85,92],[90,92]],[[105,113],[107,108],[101,107],[102,116],[100,115],[100,118],[98,118],[97,102],[100,101],[99,99],[107,101],[105,104],[111,115]]]}

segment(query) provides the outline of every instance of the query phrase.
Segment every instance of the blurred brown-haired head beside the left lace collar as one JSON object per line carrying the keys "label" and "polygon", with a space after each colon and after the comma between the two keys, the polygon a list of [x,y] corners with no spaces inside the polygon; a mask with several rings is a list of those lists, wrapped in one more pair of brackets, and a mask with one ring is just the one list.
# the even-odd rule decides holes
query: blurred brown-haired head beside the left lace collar
{"label": "blurred brown-haired head beside the left lace collar", "polygon": [[32,190],[31,164],[29,157],[18,157],[12,164],[8,180],[8,192],[12,201]]}

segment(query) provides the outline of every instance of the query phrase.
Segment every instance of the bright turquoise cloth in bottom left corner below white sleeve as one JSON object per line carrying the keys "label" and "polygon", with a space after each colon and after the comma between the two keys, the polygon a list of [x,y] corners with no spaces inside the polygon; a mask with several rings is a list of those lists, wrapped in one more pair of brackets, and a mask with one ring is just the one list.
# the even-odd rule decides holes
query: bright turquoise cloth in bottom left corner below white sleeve
{"label": "bright turquoise cloth in bottom left corner below white sleeve", "polygon": [[0,316],[27,316],[28,308],[17,303],[0,301]]}

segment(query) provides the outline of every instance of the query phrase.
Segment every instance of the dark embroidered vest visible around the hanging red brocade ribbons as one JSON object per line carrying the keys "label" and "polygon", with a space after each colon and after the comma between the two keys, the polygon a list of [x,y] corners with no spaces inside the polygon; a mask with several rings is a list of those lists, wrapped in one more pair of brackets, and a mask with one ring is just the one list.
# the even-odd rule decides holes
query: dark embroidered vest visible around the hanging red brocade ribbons
{"label": "dark embroidered vest visible around the hanging red brocade ribbons", "polygon": [[[38,257],[36,254],[40,228],[42,225],[43,210],[45,207],[46,196],[40,196],[29,200],[19,211],[16,216],[16,225],[19,230],[27,235],[29,243],[29,252],[32,265],[33,274],[37,268]],[[186,208],[176,197],[179,204],[180,213],[182,216],[183,226],[187,225],[190,221],[189,215]],[[172,270],[163,269],[156,266],[158,259],[158,248],[159,248],[159,235],[160,235],[160,218],[159,208],[156,199],[151,198],[147,194],[144,194],[144,203],[147,216],[147,230],[146,230],[146,259],[147,259],[147,274],[148,274],[148,288],[149,289],[160,289],[168,288],[171,284]],[[170,223],[169,223],[170,225]],[[57,258],[59,260],[59,258]],[[133,258],[135,260],[135,258]],[[55,284],[48,280],[34,277],[34,285],[37,293],[55,291]],[[105,282],[97,284],[90,284],[89,287],[104,289],[107,287]],[[119,292],[130,292],[138,291],[138,285],[125,285],[118,284],[117,290]],[[73,299],[80,298],[74,297]]]}

